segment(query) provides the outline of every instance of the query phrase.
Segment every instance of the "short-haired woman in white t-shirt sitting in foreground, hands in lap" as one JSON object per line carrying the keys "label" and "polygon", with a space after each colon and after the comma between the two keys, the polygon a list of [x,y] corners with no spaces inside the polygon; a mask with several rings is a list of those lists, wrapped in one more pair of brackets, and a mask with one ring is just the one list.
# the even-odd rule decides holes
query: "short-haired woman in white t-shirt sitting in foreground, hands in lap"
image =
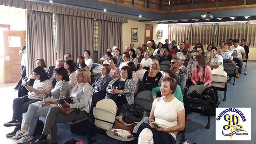
{"label": "short-haired woman in white t-shirt sitting in foreground, hands in lap", "polygon": [[[180,100],[173,96],[177,82],[174,78],[163,78],[161,95],[152,104],[148,124],[139,128],[138,144],[153,144],[162,141],[163,144],[176,144],[176,134],[185,128],[185,109]],[[152,124],[158,125],[158,128]],[[156,136],[158,135],[158,136]],[[158,137],[158,139],[155,139]],[[159,138],[160,137],[160,138]]]}

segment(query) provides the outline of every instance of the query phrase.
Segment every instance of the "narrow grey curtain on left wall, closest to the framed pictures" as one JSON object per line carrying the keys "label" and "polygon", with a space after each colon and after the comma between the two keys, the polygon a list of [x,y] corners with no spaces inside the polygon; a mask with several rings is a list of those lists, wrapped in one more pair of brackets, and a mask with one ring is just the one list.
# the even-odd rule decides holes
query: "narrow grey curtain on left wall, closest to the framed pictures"
{"label": "narrow grey curtain on left wall, closest to the framed pictures", "polygon": [[98,20],[99,32],[99,48],[98,48],[98,63],[104,52],[108,48],[117,46],[120,50],[123,49],[122,41],[122,23],[110,22],[106,20]]}

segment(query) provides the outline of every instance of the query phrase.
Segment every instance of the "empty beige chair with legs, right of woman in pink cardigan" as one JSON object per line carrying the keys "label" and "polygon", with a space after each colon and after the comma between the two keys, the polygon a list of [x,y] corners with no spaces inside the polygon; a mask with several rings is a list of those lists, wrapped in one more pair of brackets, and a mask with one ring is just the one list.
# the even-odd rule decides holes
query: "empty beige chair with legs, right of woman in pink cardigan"
{"label": "empty beige chair with legs, right of woman in pink cardigan", "polygon": [[224,102],[226,101],[227,85],[227,73],[224,70],[213,70],[211,86],[215,86],[217,90],[224,91]]}

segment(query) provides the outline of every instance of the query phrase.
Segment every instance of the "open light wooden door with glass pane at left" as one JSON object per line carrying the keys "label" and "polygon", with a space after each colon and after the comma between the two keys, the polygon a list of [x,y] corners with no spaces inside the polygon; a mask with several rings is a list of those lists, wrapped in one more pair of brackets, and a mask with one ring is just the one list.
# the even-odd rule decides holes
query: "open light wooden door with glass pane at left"
{"label": "open light wooden door with glass pane at left", "polygon": [[18,82],[20,79],[20,61],[22,55],[19,54],[21,46],[26,44],[25,31],[3,31],[4,38],[4,76],[5,83]]}

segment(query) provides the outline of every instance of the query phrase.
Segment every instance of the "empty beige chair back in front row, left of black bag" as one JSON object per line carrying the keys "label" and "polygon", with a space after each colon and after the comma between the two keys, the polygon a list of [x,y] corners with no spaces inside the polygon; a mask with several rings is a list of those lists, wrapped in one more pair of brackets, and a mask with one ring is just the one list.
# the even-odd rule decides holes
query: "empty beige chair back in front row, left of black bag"
{"label": "empty beige chair back in front row, left of black bag", "polygon": [[98,128],[109,130],[112,128],[116,117],[116,103],[111,99],[103,99],[97,102],[93,108],[94,124]]}

